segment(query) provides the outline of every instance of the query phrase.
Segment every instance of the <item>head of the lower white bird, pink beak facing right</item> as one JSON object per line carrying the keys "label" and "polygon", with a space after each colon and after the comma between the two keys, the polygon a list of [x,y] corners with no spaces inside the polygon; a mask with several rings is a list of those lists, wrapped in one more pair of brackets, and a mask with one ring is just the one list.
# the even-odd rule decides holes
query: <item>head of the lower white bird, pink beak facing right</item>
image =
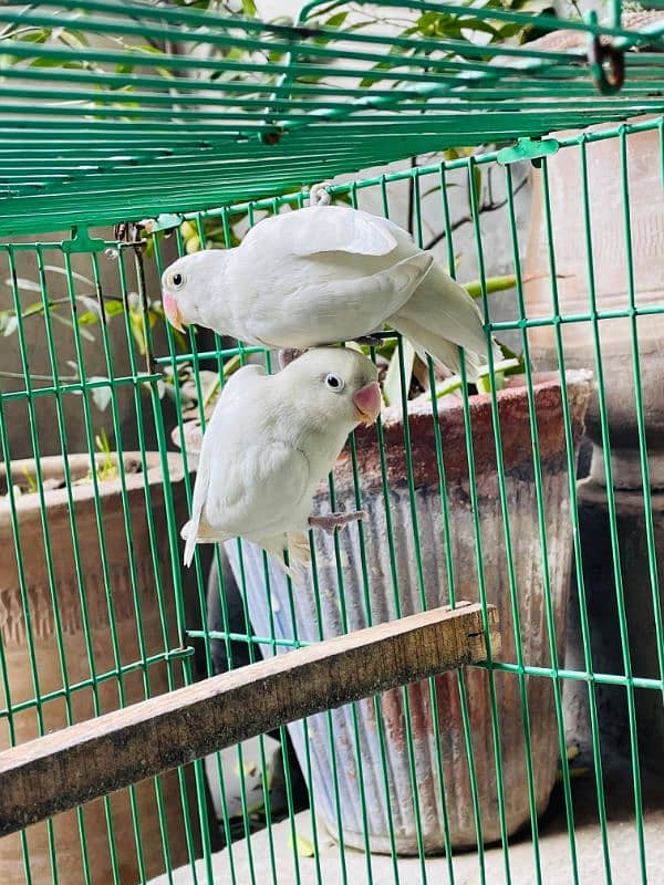
{"label": "head of the lower white bird, pink beak facing right", "polygon": [[282,376],[297,384],[302,402],[320,426],[371,425],[383,398],[376,367],[363,354],[343,347],[314,347],[290,363]]}

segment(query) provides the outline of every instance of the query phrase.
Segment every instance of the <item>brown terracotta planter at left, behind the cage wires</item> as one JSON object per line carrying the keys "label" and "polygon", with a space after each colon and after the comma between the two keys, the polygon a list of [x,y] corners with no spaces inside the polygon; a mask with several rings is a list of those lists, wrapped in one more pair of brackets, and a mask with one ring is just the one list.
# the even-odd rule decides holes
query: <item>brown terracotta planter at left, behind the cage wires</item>
{"label": "brown terracotta planter at left, behind the cage wires", "polygon": [[[149,470],[147,481],[152,497],[151,509],[156,525],[159,544],[158,559],[162,563],[164,583],[164,605],[167,624],[168,648],[177,647],[175,600],[170,580],[168,537],[164,510],[164,493],[159,456],[148,452]],[[73,455],[69,460],[74,479],[85,476],[90,459],[86,455]],[[103,537],[106,544],[108,583],[113,604],[121,665],[141,660],[137,636],[137,611],[132,592],[129,556],[135,564],[136,589],[141,603],[141,622],[145,639],[145,655],[157,655],[165,650],[163,625],[152,566],[149,538],[147,533],[145,477],[132,472],[139,468],[137,452],[125,455],[128,512],[132,521],[132,549],[127,551],[125,539],[124,509],[120,497],[120,480],[100,483],[101,509],[103,514]],[[62,459],[43,458],[41,466],[44,479],[62,478]],[[32,461],[12,462],[14,483],[24,485],[24,469],[34,475]],[[181,459],[169,458],[169,473],[174,501],[178,518],[186,513],[184,475]],[[4,488],[2,488],[4,487]],[[0,490],[6,491],[4,467],[0,467]],[[74,513],[79,532],[81,563],[83,570],[84,600],[90,624],[90,643],[94,656],[96,675],[111,673],[116,664],[113,655],[112,633],[108,616],[108,601],[102,572],[102,559],[97,524],[94,513],[92,483],[75,486],[73,489]],[[83,631],[81,587],[76,580],[69,507],[65,489],[45,491],[45,521],[51,541],[51,563],[58,596],[58,613],[62,627],[62,642],[69,685],[90,683],[91,673]],[[40,513],[40,499],[37,493],[23,493],[17,499],[19,539],[24,568],[24,584],[29,601],[30,625],[28,625],[19,585],[17,560],[10,508],[7,499],[0,500],[0,636],[2,641],[7,681],[12,706],[29,704],[35,695],[31,676],[28,629],[32,633],[32,644],[41,695],[55,693],[43,701],[43,730],[54,731],[68,725],[66,707],[63,698],[63,676],[55,636],[55,617],[49,590],[49,575]],[[173,667],[176,680],[179,666]],[[153,695],[168,690],[165,663],[155,663],[148,670],[149,688]],[[145,698],[143,671],[138,668],[123,676],[124,701],[132,704]],[[0,708],[7,708],[8,697],[0,681]],[[103,680],[97,687],[101,712],[117,709],[118,681],[116,676]],[[95,715],[91,687],[71,694],[71,716],[73,721],[90,719]],[[7,720],[2,720],[3,722]],[[33,705],[17,712],[13,718],[14,742],[22,743],[39,736],[38,715]],[[0,730],[0,749],[9,747],[9,733],[3,725]],[[179,782],[176,772],[162,779],[162,794],[167,820],[168,847],[173,866],[187,862],[187,850],[183,821]],[[157,875],[165,867],[159,820],[153,781],[143,781],[135,788],[139,820],[141,846],[148,876]],[[123,790],[110,798],[118,875],[122,883],[137,882],[139,878],[136,860],[136,843],[132,823],[128,792]],[[113,881],[108,832],[102,800],[84,806],[85,846],[87,850],[93,883],[106,885]],[[32,882],[51,881],[51,865],[46,837],[46,824],[35,824],[27,831],[30,872]],[[80,883],[84,881],[81,836],[76,813],[65,812],[53,819],[53,833],[59,881]],[[19,835],[0,840],[0,870],[3,885],[24,883],[22,851]]]}

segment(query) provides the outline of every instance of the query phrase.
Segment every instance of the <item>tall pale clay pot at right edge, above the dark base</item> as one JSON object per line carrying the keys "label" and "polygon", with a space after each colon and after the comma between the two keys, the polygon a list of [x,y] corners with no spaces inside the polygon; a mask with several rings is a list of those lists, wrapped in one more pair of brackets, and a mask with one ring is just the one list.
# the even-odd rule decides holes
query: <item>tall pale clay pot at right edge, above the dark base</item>
{"label": "tall pale clay pot at right edge, above the dark base", "polygon": [[[602,128],[602,127],[594,127]],[[605,128],[605,127],[604,127]],[[558,133],[563,137],[570,133]],[[632,261],[636,306],[657,304],[664,298],[664,191],[662,146],[657,129],[629,135],[629,200]],[[588,144],[589,196],[596,306],[599,311],[626,310],[629,273],[623,221],[621,143],[606,138]],[[588,258],[585,249],[581,152],[564,147],[547,160],[556,272],[563,314],[589,314]],[[525,263],[525,295],[529,319],[551,316],[551,282],[541,173],[533,170],[532,220]],[[639,431],[632,367],[632,333],[629,319],[600,322],[604,391],[610,421],[611,464],[616,488],[639,488]],[[595,366],[590,322],[563,325],[566,366]],[[643,409],[653,488],[664,487],[664,315],[637,319],[639,356]],[[529,331],[536,368],[556,368],[553,325]],[[596,395],[587,415],[593,442],[591,476],[603,485],[604,459]]]}

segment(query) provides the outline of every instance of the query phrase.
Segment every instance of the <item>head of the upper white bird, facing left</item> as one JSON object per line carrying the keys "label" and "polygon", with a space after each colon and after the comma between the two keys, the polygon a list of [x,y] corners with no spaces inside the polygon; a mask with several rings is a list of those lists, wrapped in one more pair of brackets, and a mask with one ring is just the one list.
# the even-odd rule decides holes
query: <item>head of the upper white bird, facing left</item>
{"label": "head of the upper white bird, facing left", "polygon": [[162,274],[162,305],[178,332],[189,323],[207,325],[204,304],[218,288],[225,256],[222,249],[205,250],[174,261]]}

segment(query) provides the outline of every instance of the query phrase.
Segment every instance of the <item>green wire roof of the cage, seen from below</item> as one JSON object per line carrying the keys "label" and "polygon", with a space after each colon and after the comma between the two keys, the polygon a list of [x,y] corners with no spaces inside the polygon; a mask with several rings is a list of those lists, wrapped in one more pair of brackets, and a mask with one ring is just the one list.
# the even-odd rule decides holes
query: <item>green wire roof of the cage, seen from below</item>
{"label": "green wire roof of the cage, seen from below", "polygon": [[[334,28],[346,6],[314,0],[292,25],[117,0],[0,8],[0,233],[208,209],[313,184],[323,164],[332,177],[662,111],[664,21],[629,30],[620,0],[602,24],[495,3],[371,4],[579,38],[564,49]],[[600,37],[637,50],[619,92],[589,61]]]}

